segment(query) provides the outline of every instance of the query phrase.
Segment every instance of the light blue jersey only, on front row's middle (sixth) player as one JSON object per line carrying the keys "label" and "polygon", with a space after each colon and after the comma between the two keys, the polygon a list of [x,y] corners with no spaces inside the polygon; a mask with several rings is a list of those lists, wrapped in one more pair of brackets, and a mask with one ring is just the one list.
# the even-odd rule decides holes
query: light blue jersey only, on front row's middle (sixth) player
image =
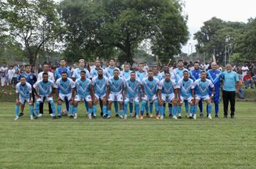
{"label": "light blue jersey only, on front row's middle (sixth) player", "polygon": [[122,94],[124,89],[124,79],[122,77],[118,77],[118,79],[111,77],[109,78],[107,85],[112,94]]}

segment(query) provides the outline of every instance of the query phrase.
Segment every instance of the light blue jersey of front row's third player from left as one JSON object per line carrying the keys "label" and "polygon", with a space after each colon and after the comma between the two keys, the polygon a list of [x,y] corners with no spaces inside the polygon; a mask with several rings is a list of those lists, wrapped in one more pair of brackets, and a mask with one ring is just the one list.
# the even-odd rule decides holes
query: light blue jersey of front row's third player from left
{"label": "light blue jersey of front row's third player from left", "polygon": [[58,88],[60,90],[60,94],[63,95],[72,93],[72,89],[75,87],[75,82],[73,82],[73,80],[70,78],[68,78],[66,81],[63,81],[62,78],[59,78],[55,82],[55,88]]}

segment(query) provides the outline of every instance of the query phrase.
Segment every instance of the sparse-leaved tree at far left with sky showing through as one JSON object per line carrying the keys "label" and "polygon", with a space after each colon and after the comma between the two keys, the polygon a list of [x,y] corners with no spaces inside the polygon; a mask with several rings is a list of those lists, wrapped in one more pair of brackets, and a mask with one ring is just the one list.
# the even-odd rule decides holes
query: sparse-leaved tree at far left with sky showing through
{"label": "sparse-leaved tree at far left with sky showing through", "polygon": [[29,63],[35,64],[44,44],[55,41],[61,33],[57,4],[52,0],[7,0],[6,6],[9,33],[22,43]]}

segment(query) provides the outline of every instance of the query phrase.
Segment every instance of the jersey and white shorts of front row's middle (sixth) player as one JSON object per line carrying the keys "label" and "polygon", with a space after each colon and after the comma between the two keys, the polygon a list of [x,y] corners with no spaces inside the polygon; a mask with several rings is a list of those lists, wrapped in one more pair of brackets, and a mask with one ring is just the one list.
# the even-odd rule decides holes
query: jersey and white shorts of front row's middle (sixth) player
{"label": "jersey and white shorts of front row's middle (sixth) player", "polygon": [[118,77],[118,79],[114,79],[114,77],[109,78],[107,81],[107,86],[109,87],[109,101],[117,101],[123,102],[122,92],[124,90],[124,79],[122,77]]}

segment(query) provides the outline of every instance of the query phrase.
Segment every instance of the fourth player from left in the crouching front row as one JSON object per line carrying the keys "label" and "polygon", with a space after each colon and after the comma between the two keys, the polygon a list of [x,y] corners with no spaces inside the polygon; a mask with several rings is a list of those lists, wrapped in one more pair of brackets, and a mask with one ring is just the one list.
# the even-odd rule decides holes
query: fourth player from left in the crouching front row
{"label": "fourth player from left in the crouching front row", "polygon": [[[86,78],[86,71],[81,70],[80,72],[81,79],[76,79],[76,97],[73,103],[73,110],[75,112],[75,116],[73,117],[73,112],[70,112],[70,118],[77,119],[78,117],[78,102],[84,100],[84,102],[88,102],[88,119],[91,119],[91,112],[93,101],[91,99],[91,79]],[[93,119],[96,118],[96,112],[93,112]]]}

